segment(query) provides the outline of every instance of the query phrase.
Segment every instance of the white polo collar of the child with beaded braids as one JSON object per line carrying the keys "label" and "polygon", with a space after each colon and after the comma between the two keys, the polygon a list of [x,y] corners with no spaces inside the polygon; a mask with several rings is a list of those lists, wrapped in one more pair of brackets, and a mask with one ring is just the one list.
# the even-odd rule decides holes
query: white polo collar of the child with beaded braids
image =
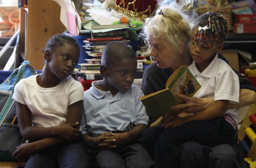
{"label": "white polo collar of the child with beaded braids", "polygon": [[218,67],[218,65],[219,65],[218,53],[216,53],[216,55],[213,58],[213,60],[211,61],[211,63],[206,67],[206,69],[204,69],[203,72],[198,71],[195,62],[193,62],[193,64],[191,65],[191,70],[192,70],[194,76],[200,74],[201,76],[204,76],[206,78],[211,78],[218,71],[218,69],[216,68],[216,67]]}

